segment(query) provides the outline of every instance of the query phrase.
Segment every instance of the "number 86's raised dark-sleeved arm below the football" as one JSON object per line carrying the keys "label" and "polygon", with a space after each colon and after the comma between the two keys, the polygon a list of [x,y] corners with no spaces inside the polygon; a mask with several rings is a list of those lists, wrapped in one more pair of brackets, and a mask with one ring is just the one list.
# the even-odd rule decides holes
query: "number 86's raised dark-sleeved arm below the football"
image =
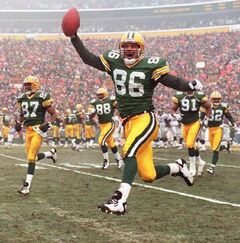
{"label": "number 86's raised dark-sleeved arm below the football", "polygon": [[106,71],[99,56],[91,53],[82,43],[77,34],[71,36],[71,42],[84,63],[100,71]]}

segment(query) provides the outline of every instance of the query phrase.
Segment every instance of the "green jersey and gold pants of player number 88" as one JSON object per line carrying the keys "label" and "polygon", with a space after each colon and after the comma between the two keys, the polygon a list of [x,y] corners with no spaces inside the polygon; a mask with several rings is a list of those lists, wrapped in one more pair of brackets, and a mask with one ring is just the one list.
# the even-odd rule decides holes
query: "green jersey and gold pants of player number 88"
{"label": "green jersey and gold pants of player number 88", "polygon": [[100,146],[107,144],[110,148],[114,148],[116,146],[113,138],[115,123],[112,118],[117,105],[116,100],[105,98],[104,100],[92,100],[90,104],[94,107],[98,116],[100,126],[98,144]]}

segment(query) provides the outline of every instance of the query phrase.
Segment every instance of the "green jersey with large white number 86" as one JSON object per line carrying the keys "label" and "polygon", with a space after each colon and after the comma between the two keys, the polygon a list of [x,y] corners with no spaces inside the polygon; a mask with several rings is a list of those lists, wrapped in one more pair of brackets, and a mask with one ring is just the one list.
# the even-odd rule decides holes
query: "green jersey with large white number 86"
{"label": "green jersey with large white number 86", "polygon": [[118,110],[122,118],[154,110],[153,91],[161,75],[170,72],[160,57],[144,57],[127,67],[117,50],[108,50],[100,59],[115,86]]}

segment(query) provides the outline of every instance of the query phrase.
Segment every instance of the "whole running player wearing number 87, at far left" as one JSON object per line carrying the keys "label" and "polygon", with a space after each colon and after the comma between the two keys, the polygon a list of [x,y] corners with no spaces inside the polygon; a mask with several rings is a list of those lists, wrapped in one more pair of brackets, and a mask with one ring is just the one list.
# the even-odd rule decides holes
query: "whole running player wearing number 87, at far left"
{"label": "whole running player wearing number 87, at far left", "polygon": [[[57,161],[56,149],[39,153],[43,137],[51,128],[51,123],[56,119],[56,111],[53,108],[53,100],[50,95],[40,90],[38,78],[28,76],[23,81],[24,93],[18,98],[20,108],[19,120],[16,121],[15,129],[20,132],[22,125],[26,127],[26,154],[28,169],[23,187],[18,191],[20,195],[28,195],[35,172],[35,163],[38,160],[48,158],[55,163]],[[45,122],[45,114],[51,115],[50,122]]]}

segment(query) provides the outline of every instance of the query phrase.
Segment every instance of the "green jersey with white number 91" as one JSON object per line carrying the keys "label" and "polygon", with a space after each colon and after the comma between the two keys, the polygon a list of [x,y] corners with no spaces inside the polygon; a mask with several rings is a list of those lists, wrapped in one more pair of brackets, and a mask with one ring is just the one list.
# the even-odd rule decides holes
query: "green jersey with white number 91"
{"label": "green jersey with white number 91", "polygon": [[181,123],[190,124],[199,120],[199,110],[203,102],[207,101],[207,96],[201,92],[194,92],[189,96],[186,92],[176,92],[172,98],[178,104],[181,113]]}

